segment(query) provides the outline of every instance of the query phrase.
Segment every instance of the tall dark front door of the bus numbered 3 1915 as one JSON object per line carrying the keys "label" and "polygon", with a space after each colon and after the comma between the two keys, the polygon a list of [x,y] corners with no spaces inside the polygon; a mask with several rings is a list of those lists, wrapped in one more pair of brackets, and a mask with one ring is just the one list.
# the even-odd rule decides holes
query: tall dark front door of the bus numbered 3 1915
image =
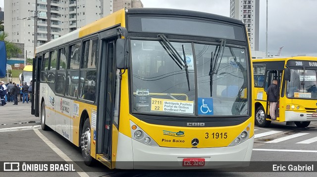
{"label": "tall dark front door of the bus numbered 3 1915", "polygon": [[[100,99],[98,104],[98,152],[111,161],[112,123],[114,112],[114,92],[116,66],[114,60],[115,41],[103,41],[101,64]],[[104,81],[104,82],[103,82]]]}

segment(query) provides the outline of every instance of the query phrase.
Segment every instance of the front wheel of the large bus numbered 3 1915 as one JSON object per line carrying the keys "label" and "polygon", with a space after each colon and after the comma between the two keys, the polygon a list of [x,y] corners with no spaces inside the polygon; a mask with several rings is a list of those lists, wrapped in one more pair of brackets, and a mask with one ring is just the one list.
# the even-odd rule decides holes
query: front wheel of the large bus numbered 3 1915
{"label": "front wheel of the large bus numbered 3 1915", "polygon": [[92,166],[94,159],[90,155],[91,150],[91,131],[90,131],[90,123],[89,118],[85,120],[81,135],[81,153],[84,158],[84,162],[87,166]]}

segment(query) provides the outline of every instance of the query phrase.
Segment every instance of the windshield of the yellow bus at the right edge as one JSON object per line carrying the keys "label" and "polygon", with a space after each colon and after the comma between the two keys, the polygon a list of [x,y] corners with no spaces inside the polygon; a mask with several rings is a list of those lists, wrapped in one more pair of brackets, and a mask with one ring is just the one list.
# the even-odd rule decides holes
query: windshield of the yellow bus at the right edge
{"label": "windshield of the yellow bus at the right edge", "polygon": [[291,69],[291,79],[287,82],[287,97],[317,99],[317,70]]}

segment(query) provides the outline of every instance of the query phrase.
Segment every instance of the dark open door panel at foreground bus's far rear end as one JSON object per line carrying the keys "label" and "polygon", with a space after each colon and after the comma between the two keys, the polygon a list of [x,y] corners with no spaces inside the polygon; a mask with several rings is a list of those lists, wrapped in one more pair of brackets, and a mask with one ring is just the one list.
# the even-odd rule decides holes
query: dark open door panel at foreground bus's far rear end
{"label": "dark open door panel at foreground bus's far rear end", "polygon": [[41,64],[42,64],[42,57],[36,57],[33,59],[33,70],[32,70],[32,108],[31,114],[39,117],[40,113],[40,100],[39,100],[39,93],[37,94],[36,91],[40,90],[40,74],[41,74]]}

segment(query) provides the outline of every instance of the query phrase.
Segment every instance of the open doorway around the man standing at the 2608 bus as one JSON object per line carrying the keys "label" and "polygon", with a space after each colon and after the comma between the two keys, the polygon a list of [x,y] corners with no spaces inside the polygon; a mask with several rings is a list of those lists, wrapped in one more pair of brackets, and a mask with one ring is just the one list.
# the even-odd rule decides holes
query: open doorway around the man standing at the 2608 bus
{"label": "open doorway around the man standing at the 2608 bus", "polygon": [[[280,88],[281,88],[281,83],[282,83],[281,79],[282,79],[283,71],[270,70],[270,71],[267,71],[266,74],[267,75],[266,75],[265,91],[267,91],[267,88],[272,84],[273,79],[277,80],[278,95],[277,95],[277,104],[276,104],[276,109],[275,109],[275,116],[276,116],[276,118],[278,118],[279,117]],[[268,100],[268,95],[267,95],[266,100]],[[266,104],[266,117],[270,119],[269,102],[268,101]]]}

